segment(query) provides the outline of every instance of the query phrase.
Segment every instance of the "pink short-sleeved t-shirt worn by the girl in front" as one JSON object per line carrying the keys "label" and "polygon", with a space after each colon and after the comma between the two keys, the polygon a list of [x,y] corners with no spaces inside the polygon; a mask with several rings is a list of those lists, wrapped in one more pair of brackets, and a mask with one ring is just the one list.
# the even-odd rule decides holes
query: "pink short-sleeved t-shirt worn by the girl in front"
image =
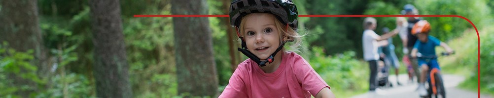
{"label": "pink short-sleeved t-shirt worn by the girl in front", "polygon": [[280,67],[264,73],[252,60],[240,63],[219,98],[310,98],[328,84],[300,55],[283,53]]}

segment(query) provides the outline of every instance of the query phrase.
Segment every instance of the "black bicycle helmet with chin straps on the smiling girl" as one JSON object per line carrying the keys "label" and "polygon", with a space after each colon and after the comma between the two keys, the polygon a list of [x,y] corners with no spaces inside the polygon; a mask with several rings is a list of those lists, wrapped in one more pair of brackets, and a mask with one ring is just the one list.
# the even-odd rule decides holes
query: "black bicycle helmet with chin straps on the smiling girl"
{"label": "black bicycle helmet with chin straps on the smiling girl", "polygon": [[[297,28],[298,12],[297,7],[292,0],[234,0],[230,4],[230,25],[236,28],[237,36],[242,40],[242,48],[238,48],[244,55],[253,60],[260,67],[266,66],[266,63],[272,63],[274,56],[279,52],[286,41],[282,41],[280,46],[266,60],[255,56],[247,49],[245,39],[239,34],[240,22],[244,16],[250,13],[270,13],[284,25],[289,25],[293,29]],[[288,29],[288,28],[287,28]]]}

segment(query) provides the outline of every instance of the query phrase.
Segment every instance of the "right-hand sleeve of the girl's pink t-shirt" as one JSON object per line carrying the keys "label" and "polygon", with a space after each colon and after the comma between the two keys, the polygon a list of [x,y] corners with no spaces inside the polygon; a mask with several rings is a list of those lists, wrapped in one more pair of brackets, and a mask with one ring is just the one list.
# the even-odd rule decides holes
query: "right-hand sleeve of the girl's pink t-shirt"
{"label": "right-hand sleeve of the girl's pink t-shirt", "polygon": [[323,78],[321,78],[321,76],[316,73],[303,58],[295,61],[294,71],[302,89],[309,91],[314,97],[325,87],[331,89]]}

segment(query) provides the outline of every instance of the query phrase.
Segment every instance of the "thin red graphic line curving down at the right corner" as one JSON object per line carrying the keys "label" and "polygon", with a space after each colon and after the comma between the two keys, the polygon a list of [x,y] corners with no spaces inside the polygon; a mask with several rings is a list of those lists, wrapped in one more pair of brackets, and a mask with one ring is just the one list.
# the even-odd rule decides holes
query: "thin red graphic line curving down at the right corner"
{"label": "thin red graphic line curving down at the right corner", "polygon": [[[230,17],[229,15],[134,15],[134,17]],[[477,32],[478,41],[478,97],[480,98],[480,35],[477,27],[472,23],[472,21],[459,15],[298,15],[298,17],[458,17],[464,19],[470,23],[475,31]]]}

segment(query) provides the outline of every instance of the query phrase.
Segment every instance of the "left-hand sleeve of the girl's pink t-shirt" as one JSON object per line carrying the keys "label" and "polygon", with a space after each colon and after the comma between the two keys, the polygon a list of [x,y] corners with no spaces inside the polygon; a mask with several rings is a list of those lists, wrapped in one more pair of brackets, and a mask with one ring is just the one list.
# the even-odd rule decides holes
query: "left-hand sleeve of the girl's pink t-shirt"
{"label": "left-hand sleeve of the girl's pink t-shirt", "polygon": [[243,78],[242,67],[239,65],[230,77],[228,85],[218,98],[247,98],[247,89]]}

